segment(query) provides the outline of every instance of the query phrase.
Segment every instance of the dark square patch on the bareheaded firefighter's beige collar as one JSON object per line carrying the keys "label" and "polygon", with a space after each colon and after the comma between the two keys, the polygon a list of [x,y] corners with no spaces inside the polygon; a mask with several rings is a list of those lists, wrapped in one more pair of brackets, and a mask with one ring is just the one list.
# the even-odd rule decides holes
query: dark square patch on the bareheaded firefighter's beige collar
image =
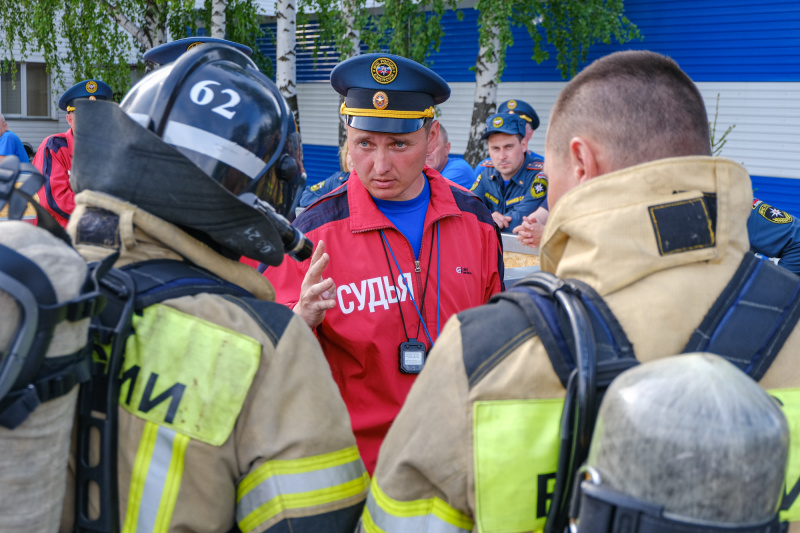
{"label": "dark square patch on the bareheaded firefighter's beige collar", "polygon": [[716,244],[715,221],[703,198],[652,205],[648,210],[660,255],[711,248]]}

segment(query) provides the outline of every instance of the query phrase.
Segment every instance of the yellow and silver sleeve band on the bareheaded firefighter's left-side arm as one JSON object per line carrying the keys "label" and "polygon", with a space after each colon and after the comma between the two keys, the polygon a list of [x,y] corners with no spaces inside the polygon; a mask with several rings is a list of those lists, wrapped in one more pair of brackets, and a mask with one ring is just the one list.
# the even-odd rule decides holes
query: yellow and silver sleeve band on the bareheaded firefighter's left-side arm
{"label": "yellow and silver sleeve band on the bareheaded firefighter's left-side arm", "polygon": [[370,485],[362,523],[369,533],[468,533],[475,525],[467,514],[450,507],[441,498],[409,502],[392,499],[375,479]]}

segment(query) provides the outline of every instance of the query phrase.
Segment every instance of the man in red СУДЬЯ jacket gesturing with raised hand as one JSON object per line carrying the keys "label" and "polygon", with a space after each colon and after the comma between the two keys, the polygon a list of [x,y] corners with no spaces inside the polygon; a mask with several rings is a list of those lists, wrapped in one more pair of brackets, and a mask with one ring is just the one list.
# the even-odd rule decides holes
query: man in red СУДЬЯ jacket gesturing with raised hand
{"label": "man in red \u0421\u0423\u0414\u042c\u042f jacket gesturing with raised hand", "polygon": [[315,328],[371,473],[445,321],[501,290],[503,257],[486,207],[425,165],[447,83],[411,60],[366,54],[339,64],[331,85],[345,96],[355,169],[294,222],[317,243],[313,257],[265,275]]}

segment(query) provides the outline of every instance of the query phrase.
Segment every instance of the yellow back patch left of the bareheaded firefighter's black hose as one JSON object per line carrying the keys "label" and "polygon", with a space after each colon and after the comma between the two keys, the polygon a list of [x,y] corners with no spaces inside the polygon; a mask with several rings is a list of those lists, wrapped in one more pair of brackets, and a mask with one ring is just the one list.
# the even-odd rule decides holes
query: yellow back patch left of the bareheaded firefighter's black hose
{"label": "yellow back patch left of the bareheaded firefighter's black hose", "polygon": [[544,527],[558,467],[563,406],[563,399],[473,405],[480,531],[539,531]]}

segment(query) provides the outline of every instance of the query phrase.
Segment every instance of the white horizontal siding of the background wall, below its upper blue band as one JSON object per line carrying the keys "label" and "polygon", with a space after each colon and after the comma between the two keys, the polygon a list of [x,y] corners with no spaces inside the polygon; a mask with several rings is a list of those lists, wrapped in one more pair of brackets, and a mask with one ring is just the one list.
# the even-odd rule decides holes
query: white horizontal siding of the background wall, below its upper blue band
{"label": "white horizontal siding of the background wall, below its upper blue band", "polygon": [[[544,133],[550,109],[566,82],[512,82],[498,88],[498,103],[525,100],[539,114],[541,125],[531,139],[531,150],[544,153]],[[732,124],[722,155],[743,163],[757,176],[800,178],[800,83],[698,83],[709,120],[720,94],[718,135]],[[450,99],[440,107],[439,120],[447,128],[452,152],[463,154],[472,119],[473,83],[451,83]],[[298,86],[303,142],[336,146],[338,95],[328,83]]]}

